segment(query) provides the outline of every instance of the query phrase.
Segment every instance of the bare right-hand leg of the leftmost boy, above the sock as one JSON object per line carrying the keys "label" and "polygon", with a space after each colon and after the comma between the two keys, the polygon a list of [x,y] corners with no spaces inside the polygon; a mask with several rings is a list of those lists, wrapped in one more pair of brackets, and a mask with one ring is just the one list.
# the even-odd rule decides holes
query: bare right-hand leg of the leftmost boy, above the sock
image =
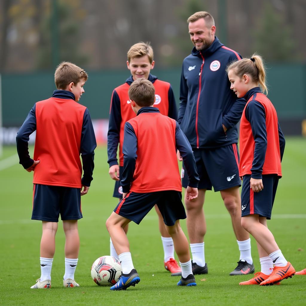
{"label": "bare right-hand leg of the leftmost boy, above the sock", "polygon": [[77,220],[63,220],[63,229],[66,236],[65,257],[78,258],[80,237],[77,229]]}

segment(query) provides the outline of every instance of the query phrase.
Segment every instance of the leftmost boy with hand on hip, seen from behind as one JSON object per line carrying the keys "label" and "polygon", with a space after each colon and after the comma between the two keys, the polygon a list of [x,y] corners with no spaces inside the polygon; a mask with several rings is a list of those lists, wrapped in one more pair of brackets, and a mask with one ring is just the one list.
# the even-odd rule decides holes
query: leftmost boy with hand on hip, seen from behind
{"label": "leftmost boy with hand on hip, seen from behind", "polygon": [[[89,111],[76,103],[87,78],[88,74],[72,63],[58,65],[54,74],[57,90],[51,98],[34,104],[16,137],[19,163],[28,172],[34,171],[32,219],[41,220],[43,225],[41,276],[31,289],[51,288],[59,215],[66,236],[63,285],[79,287],[74,280],[80,248],[77,220],[83,217],[80,197],[87,194],[92,181],[96,147]],[[28,141],[35,130],[31,159]]]}

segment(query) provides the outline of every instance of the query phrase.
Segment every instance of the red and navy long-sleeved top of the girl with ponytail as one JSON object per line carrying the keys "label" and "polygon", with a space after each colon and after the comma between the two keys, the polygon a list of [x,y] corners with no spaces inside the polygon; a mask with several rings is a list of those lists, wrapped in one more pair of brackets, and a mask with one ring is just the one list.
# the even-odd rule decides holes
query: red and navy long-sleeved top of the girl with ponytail
{"label": "red and navy long-sleeved top of the girl with ponytail", "polygon": [[264,174],[282,176],[281,160],[285,138],[276,110],[259,87],[250,89],[240,123],[239,175],[251,174],[261,179]]}

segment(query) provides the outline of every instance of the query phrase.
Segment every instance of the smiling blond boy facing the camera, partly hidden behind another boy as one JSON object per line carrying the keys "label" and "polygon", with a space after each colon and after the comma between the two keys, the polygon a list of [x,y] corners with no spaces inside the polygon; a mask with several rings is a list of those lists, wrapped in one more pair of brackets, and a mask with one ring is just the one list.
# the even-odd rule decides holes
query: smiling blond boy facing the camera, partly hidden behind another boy
{"label": "smiling blond boy facing the camera, partly hidden behind another boy", "polygon": [[[110,102],[110,119],[107,134],[107,153],[108,163],[110,166],[110,177],[115,180],[114,197],[122,199],[122,180],[123,170],[123,154],[122,144],[124,136],[125,122],[134,118],[136,115],[132,111],[129,103],[128,90],[133,81],[138,78],[145,78],[153,84],[155,88],[156,101],[154,106],[159,109],[161,114],[170,118],[177,119],[177,107],[175,104],[174,93],[170,83],[158,80],[156,76],[151,75],[150,71],[154,68],[153,49],[149,43],[136,43],[127,53],[127,67],[131,72],[131,76],[124,84],[114,89]],[[117,160],[117,149],[119,144],[119,164]],[[162,244],[164,249],[164,266],[166,270],[171,272],[171,275],[181,275],[181,269],[176,260],[174,260],[173,241],[166,228],[158,207],[155,206],[159,217],[159,230],[162,235]],[[125,228],[127,232],[128,227]],[[110,241],[110,255],[117,257],[118,255]]]}

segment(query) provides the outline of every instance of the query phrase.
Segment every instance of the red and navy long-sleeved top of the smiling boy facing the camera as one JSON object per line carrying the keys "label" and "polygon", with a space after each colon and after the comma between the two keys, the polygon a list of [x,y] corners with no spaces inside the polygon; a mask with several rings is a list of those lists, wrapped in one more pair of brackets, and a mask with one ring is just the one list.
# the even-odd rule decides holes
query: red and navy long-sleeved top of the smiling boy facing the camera
{"label": "red and navy long-sleeved top of the smiling boy facing the camera", "polygon": [[[158,80],[156,76],[149,74],[149,81],[155,87],[156,101],[154,106],[159,109],[161,114],[177,119],[177,107],[175,104],[174,93],[170,83]],[[130,76],[124,84],[114,89],[110,102],[110,119],[107,133],[107,155],[109,166],[118,165],[117,149],[119,144],[119,165],[123,166],[122,145],[124,137],[125,122],[136,117],[133,112],[128,91],[133,82]]]}

